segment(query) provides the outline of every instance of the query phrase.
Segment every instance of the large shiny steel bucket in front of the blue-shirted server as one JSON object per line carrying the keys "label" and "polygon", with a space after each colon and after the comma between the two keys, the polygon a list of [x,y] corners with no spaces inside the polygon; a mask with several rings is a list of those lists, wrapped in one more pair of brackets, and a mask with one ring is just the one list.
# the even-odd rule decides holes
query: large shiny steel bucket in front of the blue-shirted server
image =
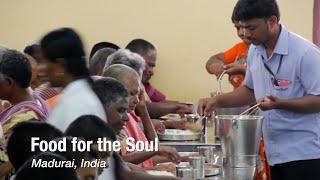
{"label": "large shiny steel bucket in front of the blue-shirted server", "polygon": [[262,116],[217,115],[224,166],[256,166]]}

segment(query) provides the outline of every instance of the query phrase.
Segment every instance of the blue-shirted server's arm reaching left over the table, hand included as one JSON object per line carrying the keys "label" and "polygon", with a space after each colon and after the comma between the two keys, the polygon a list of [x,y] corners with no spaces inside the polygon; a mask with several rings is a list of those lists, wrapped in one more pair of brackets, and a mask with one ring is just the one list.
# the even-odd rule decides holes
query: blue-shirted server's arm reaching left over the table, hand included
{"label": "blue-shirted server's arm reaching left over the table, hand included", "polygon": [[200,116],[209,115],[215,108],[239,107],[255,102],[253,90],[241,86],[238,89],[213,98],[200,99],[198,103],[198,113]]}

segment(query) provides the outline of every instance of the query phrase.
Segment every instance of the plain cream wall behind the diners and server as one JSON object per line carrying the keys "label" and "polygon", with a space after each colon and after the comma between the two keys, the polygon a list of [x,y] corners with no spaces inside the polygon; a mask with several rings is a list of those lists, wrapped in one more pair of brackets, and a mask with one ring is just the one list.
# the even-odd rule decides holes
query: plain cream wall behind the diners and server
{"label": "plain cream wall behind the diners and server", "polygon": [[[196,101],[217,89],[208,58],[239,41],[230,15],[235,0],[0,0],[0,44],[22,50],[47,31],[78,30],[87,52],[98,41],[124,47],[133,38],[158,49],[153,84],[170,99]],[[312,0],[279,0],[281,22],[312,39]],[[231,87],[224,81],[224,91]]]}

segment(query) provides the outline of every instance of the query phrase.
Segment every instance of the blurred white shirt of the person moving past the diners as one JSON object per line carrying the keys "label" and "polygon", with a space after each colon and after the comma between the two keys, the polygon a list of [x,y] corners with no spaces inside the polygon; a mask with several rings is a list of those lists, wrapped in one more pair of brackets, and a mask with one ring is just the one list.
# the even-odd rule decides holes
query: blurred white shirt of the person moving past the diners
{"label": "blurred white shirt of the person moving past the diners", "polygon": [[96,115],[107,120],[100,100],[85,79],[73,81],[62,91],[48,122],[64,132],[82,115]]}

